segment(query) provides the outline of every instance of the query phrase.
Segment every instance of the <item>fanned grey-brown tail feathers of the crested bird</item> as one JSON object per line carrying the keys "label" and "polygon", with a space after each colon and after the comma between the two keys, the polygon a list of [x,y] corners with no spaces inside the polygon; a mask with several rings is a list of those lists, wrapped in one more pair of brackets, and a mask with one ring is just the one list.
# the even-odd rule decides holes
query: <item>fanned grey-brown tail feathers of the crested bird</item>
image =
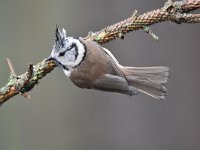
{"label": "fanned grey-brown tail feathers of the crested bird", "polygon": [[122,70],[129,84],[138,91],[156,99],[165,99],[168,67],[123,67]]}

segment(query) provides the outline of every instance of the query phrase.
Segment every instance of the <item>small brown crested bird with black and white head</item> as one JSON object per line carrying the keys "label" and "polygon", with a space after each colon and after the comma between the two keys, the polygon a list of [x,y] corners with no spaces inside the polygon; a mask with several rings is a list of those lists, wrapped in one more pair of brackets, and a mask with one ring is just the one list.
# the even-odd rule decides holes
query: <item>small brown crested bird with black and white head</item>
{"label": "small brown crested bird with black and white head", "polygon": [[147,94],[165,100],[169,68],[129,67],[119,64],[114,55],[92,40],[67,37],[57,26],[50,56],[78,87],[126,95]]}

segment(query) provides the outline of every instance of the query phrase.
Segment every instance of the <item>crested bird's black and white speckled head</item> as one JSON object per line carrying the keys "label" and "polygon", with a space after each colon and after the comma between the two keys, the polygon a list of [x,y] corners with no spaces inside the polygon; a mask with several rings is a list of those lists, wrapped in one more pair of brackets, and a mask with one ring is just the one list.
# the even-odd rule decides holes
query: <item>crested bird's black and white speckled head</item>
{"label": "crested bird's black and white speckled head", "polygon": [[71,70],[77,67],[85,57],[85,46],[77,38],[67,37],[63,28],[62,32],[57,27],[55,43],[51,57],[55,59],[64,70]]}

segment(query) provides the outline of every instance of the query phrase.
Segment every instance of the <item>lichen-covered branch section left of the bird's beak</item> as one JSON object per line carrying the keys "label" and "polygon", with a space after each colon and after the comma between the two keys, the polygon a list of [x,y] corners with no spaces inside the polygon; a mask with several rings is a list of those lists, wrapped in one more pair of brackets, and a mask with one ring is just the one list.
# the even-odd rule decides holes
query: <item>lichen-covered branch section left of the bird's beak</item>
{"label": "lichen-covered branch section left of the bird's beak", "polygon": [[33,89],[40,79],[56,67],[56,63],[54,61],[46,62],[43,60],[32,67],[31,74],[28,69],[26,73],[20,76],[10,75],[8,83],[0,90],[0,104],[3,104],[17,94],[23,94]]}

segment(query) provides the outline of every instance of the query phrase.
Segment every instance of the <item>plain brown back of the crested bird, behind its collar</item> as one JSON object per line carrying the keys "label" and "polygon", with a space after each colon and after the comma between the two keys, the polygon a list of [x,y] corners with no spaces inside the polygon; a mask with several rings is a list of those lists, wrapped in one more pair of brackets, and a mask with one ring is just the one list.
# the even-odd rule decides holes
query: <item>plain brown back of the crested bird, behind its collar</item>
{"label": "plain brown back of the crested bird, behind its collar", "polygon": [[[71,73],[70,79],[75,82],[93,81],[111,74],[124,77],[119,66],[105,53],[104,49],[94,41],[83,41],[86,46],[86,56],[82,63]],[[76,83],[75,83],[76,84]]]}

